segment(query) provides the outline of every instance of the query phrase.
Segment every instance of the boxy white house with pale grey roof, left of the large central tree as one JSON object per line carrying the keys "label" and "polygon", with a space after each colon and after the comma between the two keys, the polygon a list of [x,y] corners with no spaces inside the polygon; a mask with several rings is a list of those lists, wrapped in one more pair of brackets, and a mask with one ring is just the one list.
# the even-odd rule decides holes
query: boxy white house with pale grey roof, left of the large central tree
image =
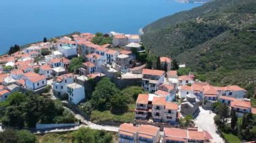
{"label": "boxy white house with pale grey roof, left of the large central tree", "polygon": [[67,85],[67,94],[69,95],[69,101],[75,104],[86,98],[84,87],[78,83],[71,83]]}

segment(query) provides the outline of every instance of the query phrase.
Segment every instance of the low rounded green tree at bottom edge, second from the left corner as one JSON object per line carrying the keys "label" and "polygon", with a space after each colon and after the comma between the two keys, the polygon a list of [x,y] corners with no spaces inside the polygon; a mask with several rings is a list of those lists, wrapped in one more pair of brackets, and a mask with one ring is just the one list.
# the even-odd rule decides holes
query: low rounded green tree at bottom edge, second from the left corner
{"label": "low rounded green tree at bottom edge, second from the left corner", "polygon": [[28,130],[18,130],[17,131],[18,142],[19,143],[36,143],[36,136],[29,132]]}

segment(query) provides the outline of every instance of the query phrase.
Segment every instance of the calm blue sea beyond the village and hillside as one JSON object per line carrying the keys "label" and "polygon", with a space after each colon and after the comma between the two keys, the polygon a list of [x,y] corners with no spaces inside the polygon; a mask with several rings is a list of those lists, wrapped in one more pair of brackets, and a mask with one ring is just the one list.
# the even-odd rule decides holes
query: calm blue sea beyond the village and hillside
{"label": "calm blue sea beyond the village and hillside", "polygon": [[0,54],[13,44],[27,44],[71,32],[123,32],[201,3],[168,0],[1,0]]}

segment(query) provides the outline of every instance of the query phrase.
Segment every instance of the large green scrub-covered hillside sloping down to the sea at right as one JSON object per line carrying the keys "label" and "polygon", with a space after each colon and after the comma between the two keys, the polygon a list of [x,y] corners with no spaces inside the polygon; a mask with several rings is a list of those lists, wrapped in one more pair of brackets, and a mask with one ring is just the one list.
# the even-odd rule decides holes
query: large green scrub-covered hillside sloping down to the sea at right
{"label": "large green scrub-covered hillside sloping down to the sea at right", "polygon": [[253,93],[255,0],[211,1],[154,21],[143,32],[141,40],[152,53],[176,58],[214,85],[238,84]]}

